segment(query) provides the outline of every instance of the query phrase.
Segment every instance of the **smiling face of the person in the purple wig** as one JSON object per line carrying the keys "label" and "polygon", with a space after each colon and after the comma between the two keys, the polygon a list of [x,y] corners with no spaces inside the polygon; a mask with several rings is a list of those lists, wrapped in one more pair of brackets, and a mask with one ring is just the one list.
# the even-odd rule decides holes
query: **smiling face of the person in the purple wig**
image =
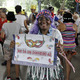
{"label": "smiling face of the person in the purple wig", "polygon": [[48,17],[45,17],[44,15],[42,15],[38,19],[38,24],[41,30],[49,30],[51,21]]}

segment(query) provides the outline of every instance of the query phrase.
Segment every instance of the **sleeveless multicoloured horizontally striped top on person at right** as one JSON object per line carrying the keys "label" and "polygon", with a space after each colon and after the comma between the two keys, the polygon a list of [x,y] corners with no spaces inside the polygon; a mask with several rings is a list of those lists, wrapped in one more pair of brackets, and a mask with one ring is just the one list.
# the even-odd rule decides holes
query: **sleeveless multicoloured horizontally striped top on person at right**
{"label": "sleeveless multicoloured horizontally striped top on person at right", "polygon": [[61,32],[63,37],[64,49],[73,50],[76,47],[75,44],[75,30],[73,29],[73,23],[65,23],[66,30]]}

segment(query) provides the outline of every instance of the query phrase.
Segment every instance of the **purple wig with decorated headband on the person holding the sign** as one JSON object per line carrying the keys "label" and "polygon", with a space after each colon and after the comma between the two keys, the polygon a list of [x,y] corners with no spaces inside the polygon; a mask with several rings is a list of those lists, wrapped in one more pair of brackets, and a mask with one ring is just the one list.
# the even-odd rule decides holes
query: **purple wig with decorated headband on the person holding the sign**
{"label": "purple wig with decorated headband on the person holding the sign", "polygon": [[34,22],[34,25],[33,25],[32,29],[30,30],[31,34],[38,34],[38,31],[40,30],[39,25],[38,25],[38,19],[41,15],[44,15],[45,17],[49,17],[49,19],[51,21],[51,27],[56,28],[55,26],[52,25],[53,19],[52,19],[51,15],[49,15],[48,13],[51,14],[51,12],[49,10],[42,10],[37,14],[37,18]]}

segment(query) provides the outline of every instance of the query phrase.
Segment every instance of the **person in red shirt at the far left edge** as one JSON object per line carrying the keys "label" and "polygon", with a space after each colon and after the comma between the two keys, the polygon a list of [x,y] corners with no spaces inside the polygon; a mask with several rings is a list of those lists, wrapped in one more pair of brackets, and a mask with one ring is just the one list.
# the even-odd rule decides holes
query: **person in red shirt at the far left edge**
{"label": "person in red shirt at the far left edge", "polygon": [[[1,30],[2,30],[3,24],[7,22],[6,12],[7,12],[7,9],[6,9],[6,8],[1,8],[1,9],[0,9],[0,16],[1,16],[1,17],[0,17],[0,35],[1,35]],[[1,38],[0,38],[0,44],[1,44],[1,46],[2,46],[2,49],[3,49],[4,40],[5,40],[5,38],[4,38],[4,39],[1,39]],[[4,53],[4,52],[3,52],[3,53]],[[2,65],[2,66],[5,66],[5,65],[6,65],[6,61],[2,62],[1,65]]]}

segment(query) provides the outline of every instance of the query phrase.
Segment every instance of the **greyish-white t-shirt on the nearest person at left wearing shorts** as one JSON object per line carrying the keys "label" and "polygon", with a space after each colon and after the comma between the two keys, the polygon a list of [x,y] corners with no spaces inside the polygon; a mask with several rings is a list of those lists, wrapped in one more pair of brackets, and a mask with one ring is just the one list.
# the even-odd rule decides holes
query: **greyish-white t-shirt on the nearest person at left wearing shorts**
{"label": "greyish-white t-shirt on the nearest person at left wearing shorts", "polygon": [[4,23],[2,26],[2,31],[6,34],[6,39],[4,41],[4,44],[10,44],[10,42],[13,40],[13,34],[19,34],[21,31],[21,26],[16,23]]}

